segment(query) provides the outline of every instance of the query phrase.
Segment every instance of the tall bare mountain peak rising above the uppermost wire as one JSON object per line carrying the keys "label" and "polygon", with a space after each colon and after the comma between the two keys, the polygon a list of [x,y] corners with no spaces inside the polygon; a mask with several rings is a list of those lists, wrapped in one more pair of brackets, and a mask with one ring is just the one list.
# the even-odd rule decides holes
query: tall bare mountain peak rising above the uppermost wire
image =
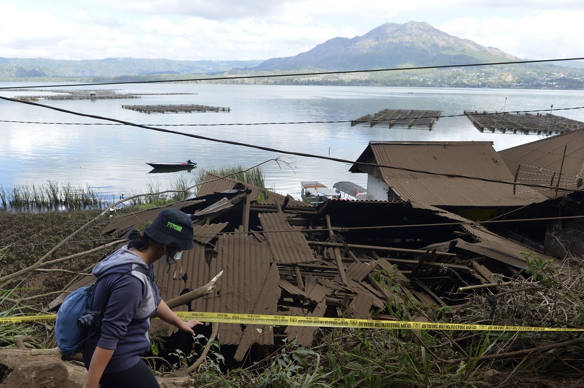
{"label": "tall bare mountain peak rising above the uppermost wire", "polygon": [[498,48],[484,47],[435,29],[428,23],[385,23],[363,36],[333,38],[294,57],[272,58],[258,71],[318,68],[347,71],[519,60]]}

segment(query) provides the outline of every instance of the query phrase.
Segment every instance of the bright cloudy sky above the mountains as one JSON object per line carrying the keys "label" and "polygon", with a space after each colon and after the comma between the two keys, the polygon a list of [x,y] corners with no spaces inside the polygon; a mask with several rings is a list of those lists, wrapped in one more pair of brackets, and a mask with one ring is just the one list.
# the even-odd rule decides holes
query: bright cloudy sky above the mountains
{"label": "bright cloudy sky above the mountains", "polygon": [[0,57],[267,60],[384,23],[529,60],[584,57],[582,0],[0,0]]}

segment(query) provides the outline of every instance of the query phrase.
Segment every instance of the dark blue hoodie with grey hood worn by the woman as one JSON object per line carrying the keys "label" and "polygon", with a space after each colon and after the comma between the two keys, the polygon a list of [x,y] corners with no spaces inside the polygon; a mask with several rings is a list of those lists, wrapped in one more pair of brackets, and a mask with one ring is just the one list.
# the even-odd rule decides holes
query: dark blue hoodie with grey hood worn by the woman
{"label": "dark blue hoodie with grey hood worn by the woman", "polygon": [[[149,270],[150,276],[134,271],[137,267]],[[100,333],[91,335],[84,344],[83,358],[87,368],[96,346],[114,349],[106,373],[131,368],[150,348],[150,317],[157,312],[161,301],[154,283],[153,267],[154,264],[148,268],[137,254],[124,246],[93,269],[93,274],[101,279],[93,293],[91,309],[101,310],[108,292],[110,297]],[[91,330],[89,334],[92,334]]]}

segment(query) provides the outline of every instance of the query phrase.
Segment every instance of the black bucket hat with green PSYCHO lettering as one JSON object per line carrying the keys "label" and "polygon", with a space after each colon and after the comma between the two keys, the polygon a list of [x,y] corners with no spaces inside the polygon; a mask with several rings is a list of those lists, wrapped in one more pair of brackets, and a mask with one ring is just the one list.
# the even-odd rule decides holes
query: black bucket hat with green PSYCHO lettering
{"label": "black bucket hat with green PSYCHO lettering", "polygon": [[166,244],[177,250],[192,249],[193,221],[178,209],[164,209],[150,225],[144,228],[144,234],[152,240]]}

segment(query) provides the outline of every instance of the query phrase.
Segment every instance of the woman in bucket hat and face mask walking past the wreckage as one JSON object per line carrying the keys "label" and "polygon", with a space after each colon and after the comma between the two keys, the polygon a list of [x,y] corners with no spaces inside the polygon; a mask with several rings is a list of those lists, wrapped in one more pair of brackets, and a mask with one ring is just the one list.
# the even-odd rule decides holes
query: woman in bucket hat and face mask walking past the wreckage
{"label": "woman in bucket hat and face mask walking past the wreckage", "polygon": [[[99,328],[89,330],[83,357],[88,375],[84,388],[159,388],[141,359],[150,348],[150,318],[156,316],[194,335],[197,320],[182,321],[158,295],[154,263],[174,263],[192,249],[193,223],[177,209],[164,209],[144,229],[132,230],[127,246],[110,254],[93,270],[100,279],[91,309],[101,311]],[[92,333],[95,333],[92,335]]]}

